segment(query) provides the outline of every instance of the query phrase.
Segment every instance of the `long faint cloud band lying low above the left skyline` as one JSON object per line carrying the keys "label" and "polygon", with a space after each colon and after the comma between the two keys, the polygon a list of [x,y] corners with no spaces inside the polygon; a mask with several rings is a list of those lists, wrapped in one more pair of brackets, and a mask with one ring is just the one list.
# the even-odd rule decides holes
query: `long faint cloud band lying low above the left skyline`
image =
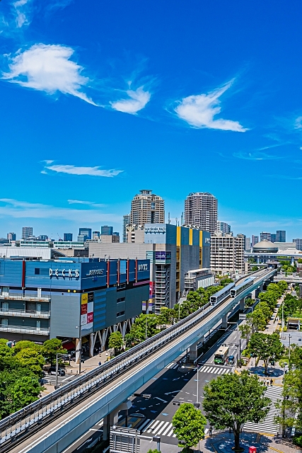
{"label": "long faint cloud band lying low above the left skyline", "polygon": [[44,205],[42,203],[30,203],[11,198],[0,198],[0,217],[13,217],[19,219],[64,219],[81,222],[83,218],[89,219],[90,223],[96,222],[120,222],[117,214],[108,214],[99,210],[84,210]]}

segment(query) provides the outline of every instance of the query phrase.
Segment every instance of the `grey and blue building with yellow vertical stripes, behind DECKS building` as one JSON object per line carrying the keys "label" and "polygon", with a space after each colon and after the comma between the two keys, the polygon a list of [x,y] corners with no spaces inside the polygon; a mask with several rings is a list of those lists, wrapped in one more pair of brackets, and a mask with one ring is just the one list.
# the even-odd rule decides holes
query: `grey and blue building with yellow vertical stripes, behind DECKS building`
{"label": "grey and blue building with yellow vertical stripes, behind DECKS building", "polygon": [[144,229],[137,231],[144,235],[144,241],[89,241],[89,256],[150,259],[149,303],[143,304],[143,310],[159,314],[162,306],[173,307],[182,297],[185,273],[192,269],[209,268],[210,235],[207,231],[173,224],[145,224]]}

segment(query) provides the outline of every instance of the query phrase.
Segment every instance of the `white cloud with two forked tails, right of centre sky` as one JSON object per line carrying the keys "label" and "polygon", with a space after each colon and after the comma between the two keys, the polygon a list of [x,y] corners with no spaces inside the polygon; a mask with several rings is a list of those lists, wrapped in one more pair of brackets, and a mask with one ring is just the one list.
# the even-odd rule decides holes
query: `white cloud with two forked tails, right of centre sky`
{"label": "white cloud with two forked tails, right of centre sky", "polygon": [[178,101],[178,106],[174,109],[181,120],[184,120],[192,127],[217,130],[231,130],[233,132],[245,132],[248,129],[240,125],[238,121],[224,120],[223,118],[214,119],[221,113],[220,97],[233,84],[233,80],[221,88],[217,88],[207,94],[187,96]]}

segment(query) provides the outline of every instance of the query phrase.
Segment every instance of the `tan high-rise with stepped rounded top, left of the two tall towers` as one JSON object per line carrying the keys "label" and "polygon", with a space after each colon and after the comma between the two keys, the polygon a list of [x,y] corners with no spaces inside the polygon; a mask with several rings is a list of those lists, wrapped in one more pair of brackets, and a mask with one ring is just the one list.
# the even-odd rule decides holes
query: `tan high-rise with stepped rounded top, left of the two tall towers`
{"label": "tan high-rise with stepped rounded top, left of the two tall towers", "polygon": [[152,190],[139,190],[131,202],[130,224],[163,224],[165,223],[165,202]]}

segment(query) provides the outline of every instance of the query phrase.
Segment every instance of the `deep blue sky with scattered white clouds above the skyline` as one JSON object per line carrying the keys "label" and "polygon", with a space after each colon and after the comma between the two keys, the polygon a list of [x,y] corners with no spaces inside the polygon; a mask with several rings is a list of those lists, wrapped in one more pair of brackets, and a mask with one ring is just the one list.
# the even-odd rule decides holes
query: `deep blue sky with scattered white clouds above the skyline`
{"label": "deep blue sky with scattered white clouds above the skyline", "polygon": [[[302,237],[301,1],[2,0],[0,236],[180,218]],[[174,221],[175,222],[175,221]]]}

